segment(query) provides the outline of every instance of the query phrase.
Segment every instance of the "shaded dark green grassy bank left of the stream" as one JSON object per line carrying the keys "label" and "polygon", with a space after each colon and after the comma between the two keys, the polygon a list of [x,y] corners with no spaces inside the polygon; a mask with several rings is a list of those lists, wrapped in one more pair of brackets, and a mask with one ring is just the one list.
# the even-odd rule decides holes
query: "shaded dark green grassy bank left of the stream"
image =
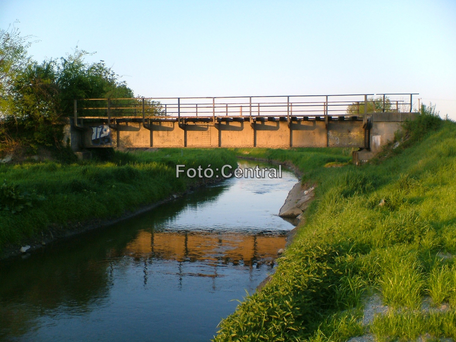
{"label": "shaded dark green grassy bank left of the stream", "polygon": [[203,169],[211,164],[213,170],[236,165],[228,150],[116,151],[100,158],[0,165],[0,180],[5,180],[0,189],[0,249],[48,236],[49,229],[120,217],[200,181],[183,174],[176,178],[176,164]]}

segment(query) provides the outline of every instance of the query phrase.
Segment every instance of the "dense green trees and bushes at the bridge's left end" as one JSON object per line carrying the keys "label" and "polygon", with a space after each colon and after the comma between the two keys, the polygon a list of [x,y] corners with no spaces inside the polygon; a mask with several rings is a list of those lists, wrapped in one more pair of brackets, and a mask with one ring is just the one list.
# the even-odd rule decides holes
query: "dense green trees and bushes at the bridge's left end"
{"label": "dense green trees and bushes at the bridge's left end", "polygon": [[[62,148],[62,118],[73,115],[73,100],[126,98],[115,107],[140,107],[133,91],[104,61],[88,63],[90,53],[73,54],[41,63],[27,55],[30,37],[22,37],[14,26],[0,29],[0,155],[29,155],[40,146]],[[103,107],[106,101],[80,101],[79,107]],[[161,114],[158,102],[147,100],[147,114]],[[104,109],[92,111],[103,114]],[[131,114],[130,114],[131,115]]]}

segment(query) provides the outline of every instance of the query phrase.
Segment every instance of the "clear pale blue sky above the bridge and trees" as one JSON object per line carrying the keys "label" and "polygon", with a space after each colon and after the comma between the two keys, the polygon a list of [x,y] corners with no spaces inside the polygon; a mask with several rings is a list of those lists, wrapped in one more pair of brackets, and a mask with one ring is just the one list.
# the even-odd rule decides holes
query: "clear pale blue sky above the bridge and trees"
{"label": "clear pale blue sky above the bridge and trees", "polygon": [[456,1],[0,0],[33,57],[97,52],[135,94],[420,93],[456,119]]}

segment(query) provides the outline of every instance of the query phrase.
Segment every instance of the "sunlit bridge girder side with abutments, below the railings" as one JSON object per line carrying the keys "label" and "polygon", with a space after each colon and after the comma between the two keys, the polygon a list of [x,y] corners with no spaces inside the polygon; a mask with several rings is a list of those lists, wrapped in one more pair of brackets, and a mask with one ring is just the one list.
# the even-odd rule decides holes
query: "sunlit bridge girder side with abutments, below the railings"
{"label": "sunlit bridge girder side with abutments, below the railings", "polygon": [[169,118],[151,122],[150,129],[140,118],[122,119],[109,126],[106,120],[96,119],[84,120],[79,127],[66,125],[65,137],[70,138],[73,150],[91,147],[352,147],[375,152],[394,139],[401,122],[415,115],[369,114],[367,125],[360,118],[328,118],[327,124],[324,118],[298,118],[288,123],[285,118],[246,117],[242,121],[233,117],[223,118],[221,122],[216,118],[215,124],[203,119],[178,124]]}

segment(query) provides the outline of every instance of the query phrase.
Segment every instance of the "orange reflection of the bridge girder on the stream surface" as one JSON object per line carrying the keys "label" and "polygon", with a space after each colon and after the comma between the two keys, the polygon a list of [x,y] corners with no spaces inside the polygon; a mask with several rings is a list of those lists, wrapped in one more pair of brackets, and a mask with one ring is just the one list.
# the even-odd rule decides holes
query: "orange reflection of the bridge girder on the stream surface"
{"label": "orange reflection of the bridge girder on the stream surface", "polygon": [[285,247],[285,235],[247,233],[155,232],[141,230],[124,249],[134,258],[202,261],[222,264],[266,264]]}

